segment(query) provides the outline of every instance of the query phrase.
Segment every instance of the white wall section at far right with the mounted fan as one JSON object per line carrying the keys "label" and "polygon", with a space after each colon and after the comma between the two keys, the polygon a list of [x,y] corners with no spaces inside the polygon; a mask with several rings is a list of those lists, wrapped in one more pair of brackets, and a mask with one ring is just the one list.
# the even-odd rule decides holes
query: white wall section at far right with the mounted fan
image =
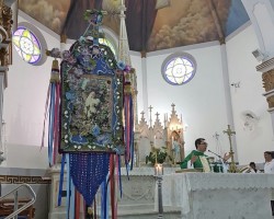
{"label": "white wall section at far right with the mounted fan", "polygon": [[[252,25],[226,45],[230,83],[240,82],[240,88],[230,90],[239,161],[263,162],[263,152],[273,150],[273,135],[267,103],[262,95],[265,92],[262,73],[255,70],[259,62],[251,54],[259,47]],[[254,130],[243,128],[242,113],[247,111],[259,116]]]}

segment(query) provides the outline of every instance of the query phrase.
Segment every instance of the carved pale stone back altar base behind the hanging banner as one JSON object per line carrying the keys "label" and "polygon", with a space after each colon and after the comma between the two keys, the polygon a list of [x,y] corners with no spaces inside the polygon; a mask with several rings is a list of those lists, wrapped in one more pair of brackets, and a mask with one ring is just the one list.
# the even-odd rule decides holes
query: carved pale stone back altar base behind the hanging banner
{"label": "carved pale stone back altar base behind the hanging banner", "polygon": [[[179,168],[165,168],[164,174],[174,173]],[[50,198],[49,198],[49,219],[65,219],[66,218],[66,195],[62,196],[61,205],[58,206],[59,194],[59,176],[60,166],[53,166],[49,171],[52,180]],[[141,166],[128,171],[126,168],[121,169],[122,180],[122,197],[118,197],[118,218],[130,218],[137,215],[149,218],[151,214],[156,214],[155,201],[157,200],[156,194],[156,178],[155,168]],[[62,192],[66,194],[66,173],[64,178]],[[117,191],[119,193],[119,191]],[[100,203],[100,201],[98,201]],[[100,214],[100,206],[98,206],[98,214]],[[80,218],[84,218],[80,214]],[[142,217],[142,218],[144,218]]]}

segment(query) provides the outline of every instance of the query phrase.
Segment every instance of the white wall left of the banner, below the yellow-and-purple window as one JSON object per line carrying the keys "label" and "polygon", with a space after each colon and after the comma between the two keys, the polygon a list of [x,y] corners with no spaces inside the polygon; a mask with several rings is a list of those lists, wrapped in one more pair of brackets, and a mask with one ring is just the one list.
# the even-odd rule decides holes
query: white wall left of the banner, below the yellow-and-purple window
{"label": "white wall left of the banner, below the yellow-and-purple window", "polygon": [[[19,16],[19,22],[25,20]],[[43,30],[39,31],[49,49],[59,47],[59,39]],[[21,59],[14,47],[12,53],[13,65],[9,68],[3,100],[8,150],[8,161],[3,165],[46,168],[47,155],[43,152],[45,149],[39,151],[39,147],[53,59],[48,58],[43,66],[32,66]]]}

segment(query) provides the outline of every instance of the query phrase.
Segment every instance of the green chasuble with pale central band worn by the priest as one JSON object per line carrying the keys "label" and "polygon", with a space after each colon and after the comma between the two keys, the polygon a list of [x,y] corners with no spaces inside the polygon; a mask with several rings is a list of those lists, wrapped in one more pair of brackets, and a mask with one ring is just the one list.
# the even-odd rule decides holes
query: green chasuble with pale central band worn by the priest
{"label": "green chasuble with pale central band worn by the priest", "polygon": [[193,150],[181,163],[181,169],[187,169],[187,162],[191,160],[193,155],[196,155],[197,159],[193,163],[193,168],[203,168],[204,172],[210,172],[210,165],[206,159],[207,155],[205,155],[203,152]]}

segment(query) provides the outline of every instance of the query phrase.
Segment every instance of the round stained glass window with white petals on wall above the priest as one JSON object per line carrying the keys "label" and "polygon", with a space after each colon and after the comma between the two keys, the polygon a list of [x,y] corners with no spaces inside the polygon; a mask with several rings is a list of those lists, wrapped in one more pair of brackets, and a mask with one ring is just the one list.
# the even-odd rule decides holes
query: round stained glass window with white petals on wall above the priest
{"label": "round stained glass window with white petals on wall above the priest", "polygon": [[162,64],[163,79],[172,85],[190,82],[196,72],[196,61],[190,54],[172,54]]}

